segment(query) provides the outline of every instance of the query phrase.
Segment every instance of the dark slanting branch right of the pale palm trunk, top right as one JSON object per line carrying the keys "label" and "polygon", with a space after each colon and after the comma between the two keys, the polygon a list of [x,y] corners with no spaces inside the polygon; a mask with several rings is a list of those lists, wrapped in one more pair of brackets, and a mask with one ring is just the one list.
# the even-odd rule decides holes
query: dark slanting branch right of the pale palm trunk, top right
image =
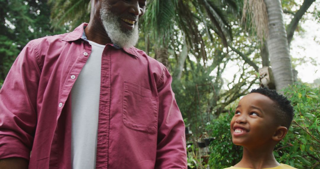
{"label": "dark slanting branch right of the pale palm trunk, top right", "polygon": [[311,4],[313,2],[315,2],[316,0],[304,0],[303,4],[300,6],[300,9],[296,12],[296,14],[294,14],[293,19],[291,20],[290,24],[288,25],[287,28],[287,38],[288,38],[288,44],[290,46],[293,34],[294,34],[294,30],[297,28],[298,24],[299,24],[299,20],[302,18],[302,16],[304,15],[304,13],[307,12],[307,10],[309,9],[309,7],[311,6]]}

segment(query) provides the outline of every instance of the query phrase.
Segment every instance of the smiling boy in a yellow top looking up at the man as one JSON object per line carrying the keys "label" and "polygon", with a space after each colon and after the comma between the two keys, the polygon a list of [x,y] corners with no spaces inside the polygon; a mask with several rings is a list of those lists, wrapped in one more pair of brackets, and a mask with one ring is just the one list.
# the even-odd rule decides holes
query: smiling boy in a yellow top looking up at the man
{"label": "smiling boy in a yellow top looking up at the man", "polygon": [[290,101],[275,90],[258,88],[244,96],[230,122],[232,142],[243,146],[241,161],[227,169],[294,169],[279,164],[273,149],[293,118]]}

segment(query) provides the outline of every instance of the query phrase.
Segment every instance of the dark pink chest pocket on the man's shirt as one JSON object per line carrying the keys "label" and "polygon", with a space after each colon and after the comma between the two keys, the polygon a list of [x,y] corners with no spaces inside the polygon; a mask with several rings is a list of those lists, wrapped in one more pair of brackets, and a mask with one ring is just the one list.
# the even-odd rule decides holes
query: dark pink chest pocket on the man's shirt
{"label": "dark pink chest pocket on the man's shirt", "polygon": [[149,134],[157,131],[157,102],[151,90],[124,82],[123,123],[126,127]]}

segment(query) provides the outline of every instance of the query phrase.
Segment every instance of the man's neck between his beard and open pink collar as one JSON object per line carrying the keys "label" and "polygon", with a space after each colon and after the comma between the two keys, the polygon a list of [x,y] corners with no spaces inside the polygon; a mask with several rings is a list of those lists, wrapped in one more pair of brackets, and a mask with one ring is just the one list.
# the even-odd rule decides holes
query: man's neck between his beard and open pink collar
{"label": "man's neck between his beard and open pink collar", "polygon": [[90,20],[84,32],[88,40],[97,44],[106,45],[112,43],[101,23]]}

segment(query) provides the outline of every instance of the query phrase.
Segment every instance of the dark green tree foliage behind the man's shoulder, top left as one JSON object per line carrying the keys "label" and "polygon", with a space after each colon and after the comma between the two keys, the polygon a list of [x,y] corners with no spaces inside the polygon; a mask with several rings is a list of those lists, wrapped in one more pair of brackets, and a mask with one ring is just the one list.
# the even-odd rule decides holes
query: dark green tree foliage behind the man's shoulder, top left
{"label": "dark green tree foliage behind the man's shoulder, top left", "polygon": [[0,84],[28,41],[65,32],[60,27],[53,33],[45,0],[0,0],[0,20]]}

